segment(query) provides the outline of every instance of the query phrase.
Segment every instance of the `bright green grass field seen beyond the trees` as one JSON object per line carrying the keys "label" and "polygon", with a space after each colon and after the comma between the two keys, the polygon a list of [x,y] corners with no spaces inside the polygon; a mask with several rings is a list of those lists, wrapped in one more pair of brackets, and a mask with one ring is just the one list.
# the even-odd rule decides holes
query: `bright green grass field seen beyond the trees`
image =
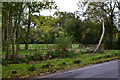
{"label": "bright green grass field seen beyond the trees", "polygon": [[[25,44],[20,44],[20,51],[18,52],[19,55],[26,55],[26,54],[44,54],[47,52],[48,49],[55,49],[54,44],[29,44],[28,50],[25,50]],[[83,46],[81,45],[79,47],[79,44],[72,44],[72,49],[83,49]],[[6,53],[3,51],[3,55]]]}

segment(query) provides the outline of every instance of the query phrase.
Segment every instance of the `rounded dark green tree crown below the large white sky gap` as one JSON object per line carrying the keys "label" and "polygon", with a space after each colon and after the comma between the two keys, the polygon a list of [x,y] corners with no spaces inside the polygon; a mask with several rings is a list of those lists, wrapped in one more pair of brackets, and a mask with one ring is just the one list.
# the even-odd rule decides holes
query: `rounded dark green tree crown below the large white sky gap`
{"label": "rounded dark green tree crown below the large white sky gap", "polygon": [[64,29],[69,36],[73,36],[73,41],[80,43],[82,40],[82,32],[84,26],[82,21],[77,17],[73,16],[64,22]]}

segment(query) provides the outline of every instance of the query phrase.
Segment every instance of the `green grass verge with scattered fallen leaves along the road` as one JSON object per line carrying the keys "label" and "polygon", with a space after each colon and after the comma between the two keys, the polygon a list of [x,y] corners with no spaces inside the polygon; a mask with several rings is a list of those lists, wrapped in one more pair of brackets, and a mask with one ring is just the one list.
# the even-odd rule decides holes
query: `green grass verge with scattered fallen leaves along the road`
{"label": "green grass verge with scattered fallen leaves along the road", "polygon": [[[44,75],[54,72],[59,72],[61,70],[68,70],[71,68],[79,68],[89,64],[95,64],[101,61],[107,61],[110,59],[118,58],[118,56],[114,55],[115,53],[120,54],[120,50],[106,50],[104,54],[100,53],[86,53],[77,56],[76,58],[54,58],[50,60],[36,61],[30,62],[29,64],[9,64],[7,66],[3,66],[3,78],[10,77],[29,77],[35,75]],[[110,55],[109,57],[106,57]],[[120,55],[119,55],[120,56]],[[80,60],[80,63],[73,63],[75,60]],[[63,65],[63,62],[66,65]],[[43,68],[43,65],[50,63],[51,67]],[[27,71],[30,67],[35,66],[35,71]],[[17,71],[17,73],[12,74],[12,71]]]}

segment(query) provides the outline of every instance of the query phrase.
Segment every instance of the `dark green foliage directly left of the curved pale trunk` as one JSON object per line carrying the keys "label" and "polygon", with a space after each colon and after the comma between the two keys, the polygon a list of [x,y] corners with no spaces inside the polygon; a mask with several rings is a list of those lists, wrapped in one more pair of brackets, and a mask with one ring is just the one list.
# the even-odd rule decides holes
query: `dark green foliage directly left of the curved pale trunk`
{"label": "dark green foliage directly left of the curved pale trunk", "polygon": [[86,23],[84,23],[84,28],[85,30],[83,31],[82,43],[98,43],[101,34],[101,23],[87,21]]}

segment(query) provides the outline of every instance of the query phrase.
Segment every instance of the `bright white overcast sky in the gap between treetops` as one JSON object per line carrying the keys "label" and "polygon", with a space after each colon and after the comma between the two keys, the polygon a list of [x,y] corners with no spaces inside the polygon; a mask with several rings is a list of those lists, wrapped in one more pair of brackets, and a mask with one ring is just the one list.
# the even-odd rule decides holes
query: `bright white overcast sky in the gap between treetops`
{"label": "bright white overcast sky in the gap between treetops", "polygon": [[[54,0],[58,6],[59,11],[74,12],[78,10],[78,0]],[[44,10],[41,12],[41,15],[53,15],[55,10]]]}

